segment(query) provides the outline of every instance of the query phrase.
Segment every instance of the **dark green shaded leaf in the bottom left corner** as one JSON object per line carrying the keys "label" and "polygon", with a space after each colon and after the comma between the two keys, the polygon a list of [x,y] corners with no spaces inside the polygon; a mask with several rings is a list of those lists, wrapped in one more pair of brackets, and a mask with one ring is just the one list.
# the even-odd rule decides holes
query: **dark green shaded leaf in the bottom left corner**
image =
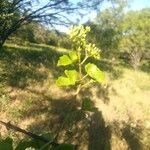
{"label": "dark green shaded leaf in the bottom left corner", "polygon": [[6,138],[5,140],[0,139],[0,149],[1,150],[13,150],[12,139]]}

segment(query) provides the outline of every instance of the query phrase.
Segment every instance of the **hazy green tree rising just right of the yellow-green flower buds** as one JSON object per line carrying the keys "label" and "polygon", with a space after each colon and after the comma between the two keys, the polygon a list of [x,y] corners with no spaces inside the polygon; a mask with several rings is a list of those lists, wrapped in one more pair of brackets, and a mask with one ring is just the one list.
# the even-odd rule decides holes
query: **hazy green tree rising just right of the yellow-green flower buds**
{"label": "hazy green tree rising just right of the yellow-green flower buds", "polygon": [[[98,13],[94,22],[89,22],[91,32],[89,40],[103,51],[105,57],[116,57],[121,39],[120,25],[123,21],[127,1],[115,0],[114,5]],[[92,38],[91,38],[92,37]]]}

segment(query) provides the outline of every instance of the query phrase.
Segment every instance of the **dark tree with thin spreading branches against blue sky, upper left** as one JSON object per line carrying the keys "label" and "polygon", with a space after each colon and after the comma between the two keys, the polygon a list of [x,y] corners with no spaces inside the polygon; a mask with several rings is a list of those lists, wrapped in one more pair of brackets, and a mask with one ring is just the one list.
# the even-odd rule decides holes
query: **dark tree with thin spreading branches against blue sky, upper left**
{"label": "dark tree with thin spreading branches against blue sky, upper left", "polygon": [[0,0],[0,47],[24,24],[37,21],[51,26],[67,25],[70,23],[68,13],[77,11],[81,6],[82,9],[92,8],[101,1],[85,0],[73,5],[69,0],[47,0],[44,4],[39,4],[38,0]]}

